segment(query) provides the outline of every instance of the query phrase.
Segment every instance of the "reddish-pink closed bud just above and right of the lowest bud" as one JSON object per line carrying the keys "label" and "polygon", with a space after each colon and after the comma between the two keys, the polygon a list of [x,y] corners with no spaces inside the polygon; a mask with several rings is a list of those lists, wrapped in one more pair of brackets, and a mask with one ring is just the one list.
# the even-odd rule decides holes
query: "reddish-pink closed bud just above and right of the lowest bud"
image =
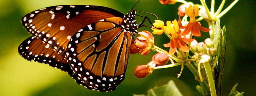
{"label": "reddish-pink closed bud just above and right of the lowest bud", "polygon": [[157,53],[152,57],[152,61],[157,65],[164,65],[168,62],[169,56],[165,53]]}

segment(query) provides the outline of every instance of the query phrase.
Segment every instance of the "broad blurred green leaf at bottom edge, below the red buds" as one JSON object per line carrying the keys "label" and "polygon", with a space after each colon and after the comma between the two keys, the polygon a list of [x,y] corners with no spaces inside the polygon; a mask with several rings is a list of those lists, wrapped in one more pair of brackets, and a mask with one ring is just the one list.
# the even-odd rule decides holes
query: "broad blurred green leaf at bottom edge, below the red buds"
{"label": "broad blurred green leaf at bottom edge, below the red buds", "polygon": [[[136,95],[133,94],[133,96],[145,96],[145,95]],[[171,80],[168,84],[160,86],[160,87],[154,87],[150,90],[148,90],[147,96],[183,96],[173,80]]]}

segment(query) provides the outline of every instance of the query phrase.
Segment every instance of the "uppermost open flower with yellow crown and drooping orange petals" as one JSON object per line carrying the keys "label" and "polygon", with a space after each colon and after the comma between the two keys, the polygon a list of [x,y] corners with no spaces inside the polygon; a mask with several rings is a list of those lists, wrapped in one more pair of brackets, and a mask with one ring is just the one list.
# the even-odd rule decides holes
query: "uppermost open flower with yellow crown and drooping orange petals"
{"label": "uppermost open flower with yellow crown and drooping orange petals", "polygon": [[185,13],[186,13],[187,16],[190,17],[190,21],[187,24],[185,30],[182,32],[182,34],[180,34],[181,36],[185,36],[186,34],[190,33],[190,31],[191,31],[191,33],[194,36],[199,37],[199,36],[201,36],[199,28],[203,32],[208,32],[208,31],[211,30],[211,29],[207,29],[207,28],[202,27],[201,24],[196,21],[195,17],[197,17],[198,14],[199,14],[198,5],[193,4],[193,7],[192,7],[192,5],[189,5],[188,8],[185,7]]}

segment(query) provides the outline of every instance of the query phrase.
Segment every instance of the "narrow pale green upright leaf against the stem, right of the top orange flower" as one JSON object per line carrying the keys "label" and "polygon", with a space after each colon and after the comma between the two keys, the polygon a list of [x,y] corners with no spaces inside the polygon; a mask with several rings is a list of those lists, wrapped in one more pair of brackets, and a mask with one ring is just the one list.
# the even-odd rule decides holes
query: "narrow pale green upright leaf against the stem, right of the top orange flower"
{"label": "narrow pale green upright leaf against the stem, right of the top orange flower", "polygon": [[[213,45],[214,48],[216,49],[216,53],[218,53],[218,45],[221,39],[221,24],[220,24],[220,18],[217,19],[215,28],[214,28],[214,38],[213,38]],[[218,55],[218,54],[217,54]]]}

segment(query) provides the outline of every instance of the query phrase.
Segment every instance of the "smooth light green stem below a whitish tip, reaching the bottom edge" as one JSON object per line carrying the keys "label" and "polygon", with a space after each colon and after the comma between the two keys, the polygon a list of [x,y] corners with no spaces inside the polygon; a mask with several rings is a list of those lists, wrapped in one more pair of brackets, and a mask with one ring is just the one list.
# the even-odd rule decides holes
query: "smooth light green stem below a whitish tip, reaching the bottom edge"
{"label": "smooth light green stem below a whitish tip, reaching the bottom edge", "polygon": [[208,82],[209,82],[209,86],[210,86],[211,95],[216,96],[216,90],[215,90],[215,85],[214,85],[214,81],[213,81],[213,76],[212,76],[212,70],[211,70],[211,67],[210,67],[210,63],[206,62],[206,63],[203,63],[203,65],[205,67],[206,75],[208,77]]}

